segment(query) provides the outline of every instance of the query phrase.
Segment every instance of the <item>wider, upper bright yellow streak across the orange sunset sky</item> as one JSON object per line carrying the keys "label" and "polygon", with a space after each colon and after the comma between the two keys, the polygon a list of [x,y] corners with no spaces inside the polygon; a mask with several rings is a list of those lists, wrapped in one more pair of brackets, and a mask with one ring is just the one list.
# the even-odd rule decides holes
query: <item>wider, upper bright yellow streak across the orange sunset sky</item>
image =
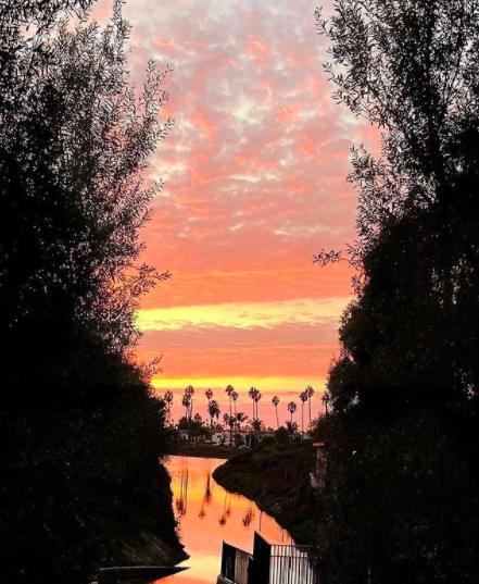
{"label": "wider, upper bright yellow streak across the orange sunset sky", "polygon": [[253,328],[286,323],[320,324],[339,320],[351,298],[290,300],[144,309],[138,312],[141,331],[178,330],[185,326]]}

